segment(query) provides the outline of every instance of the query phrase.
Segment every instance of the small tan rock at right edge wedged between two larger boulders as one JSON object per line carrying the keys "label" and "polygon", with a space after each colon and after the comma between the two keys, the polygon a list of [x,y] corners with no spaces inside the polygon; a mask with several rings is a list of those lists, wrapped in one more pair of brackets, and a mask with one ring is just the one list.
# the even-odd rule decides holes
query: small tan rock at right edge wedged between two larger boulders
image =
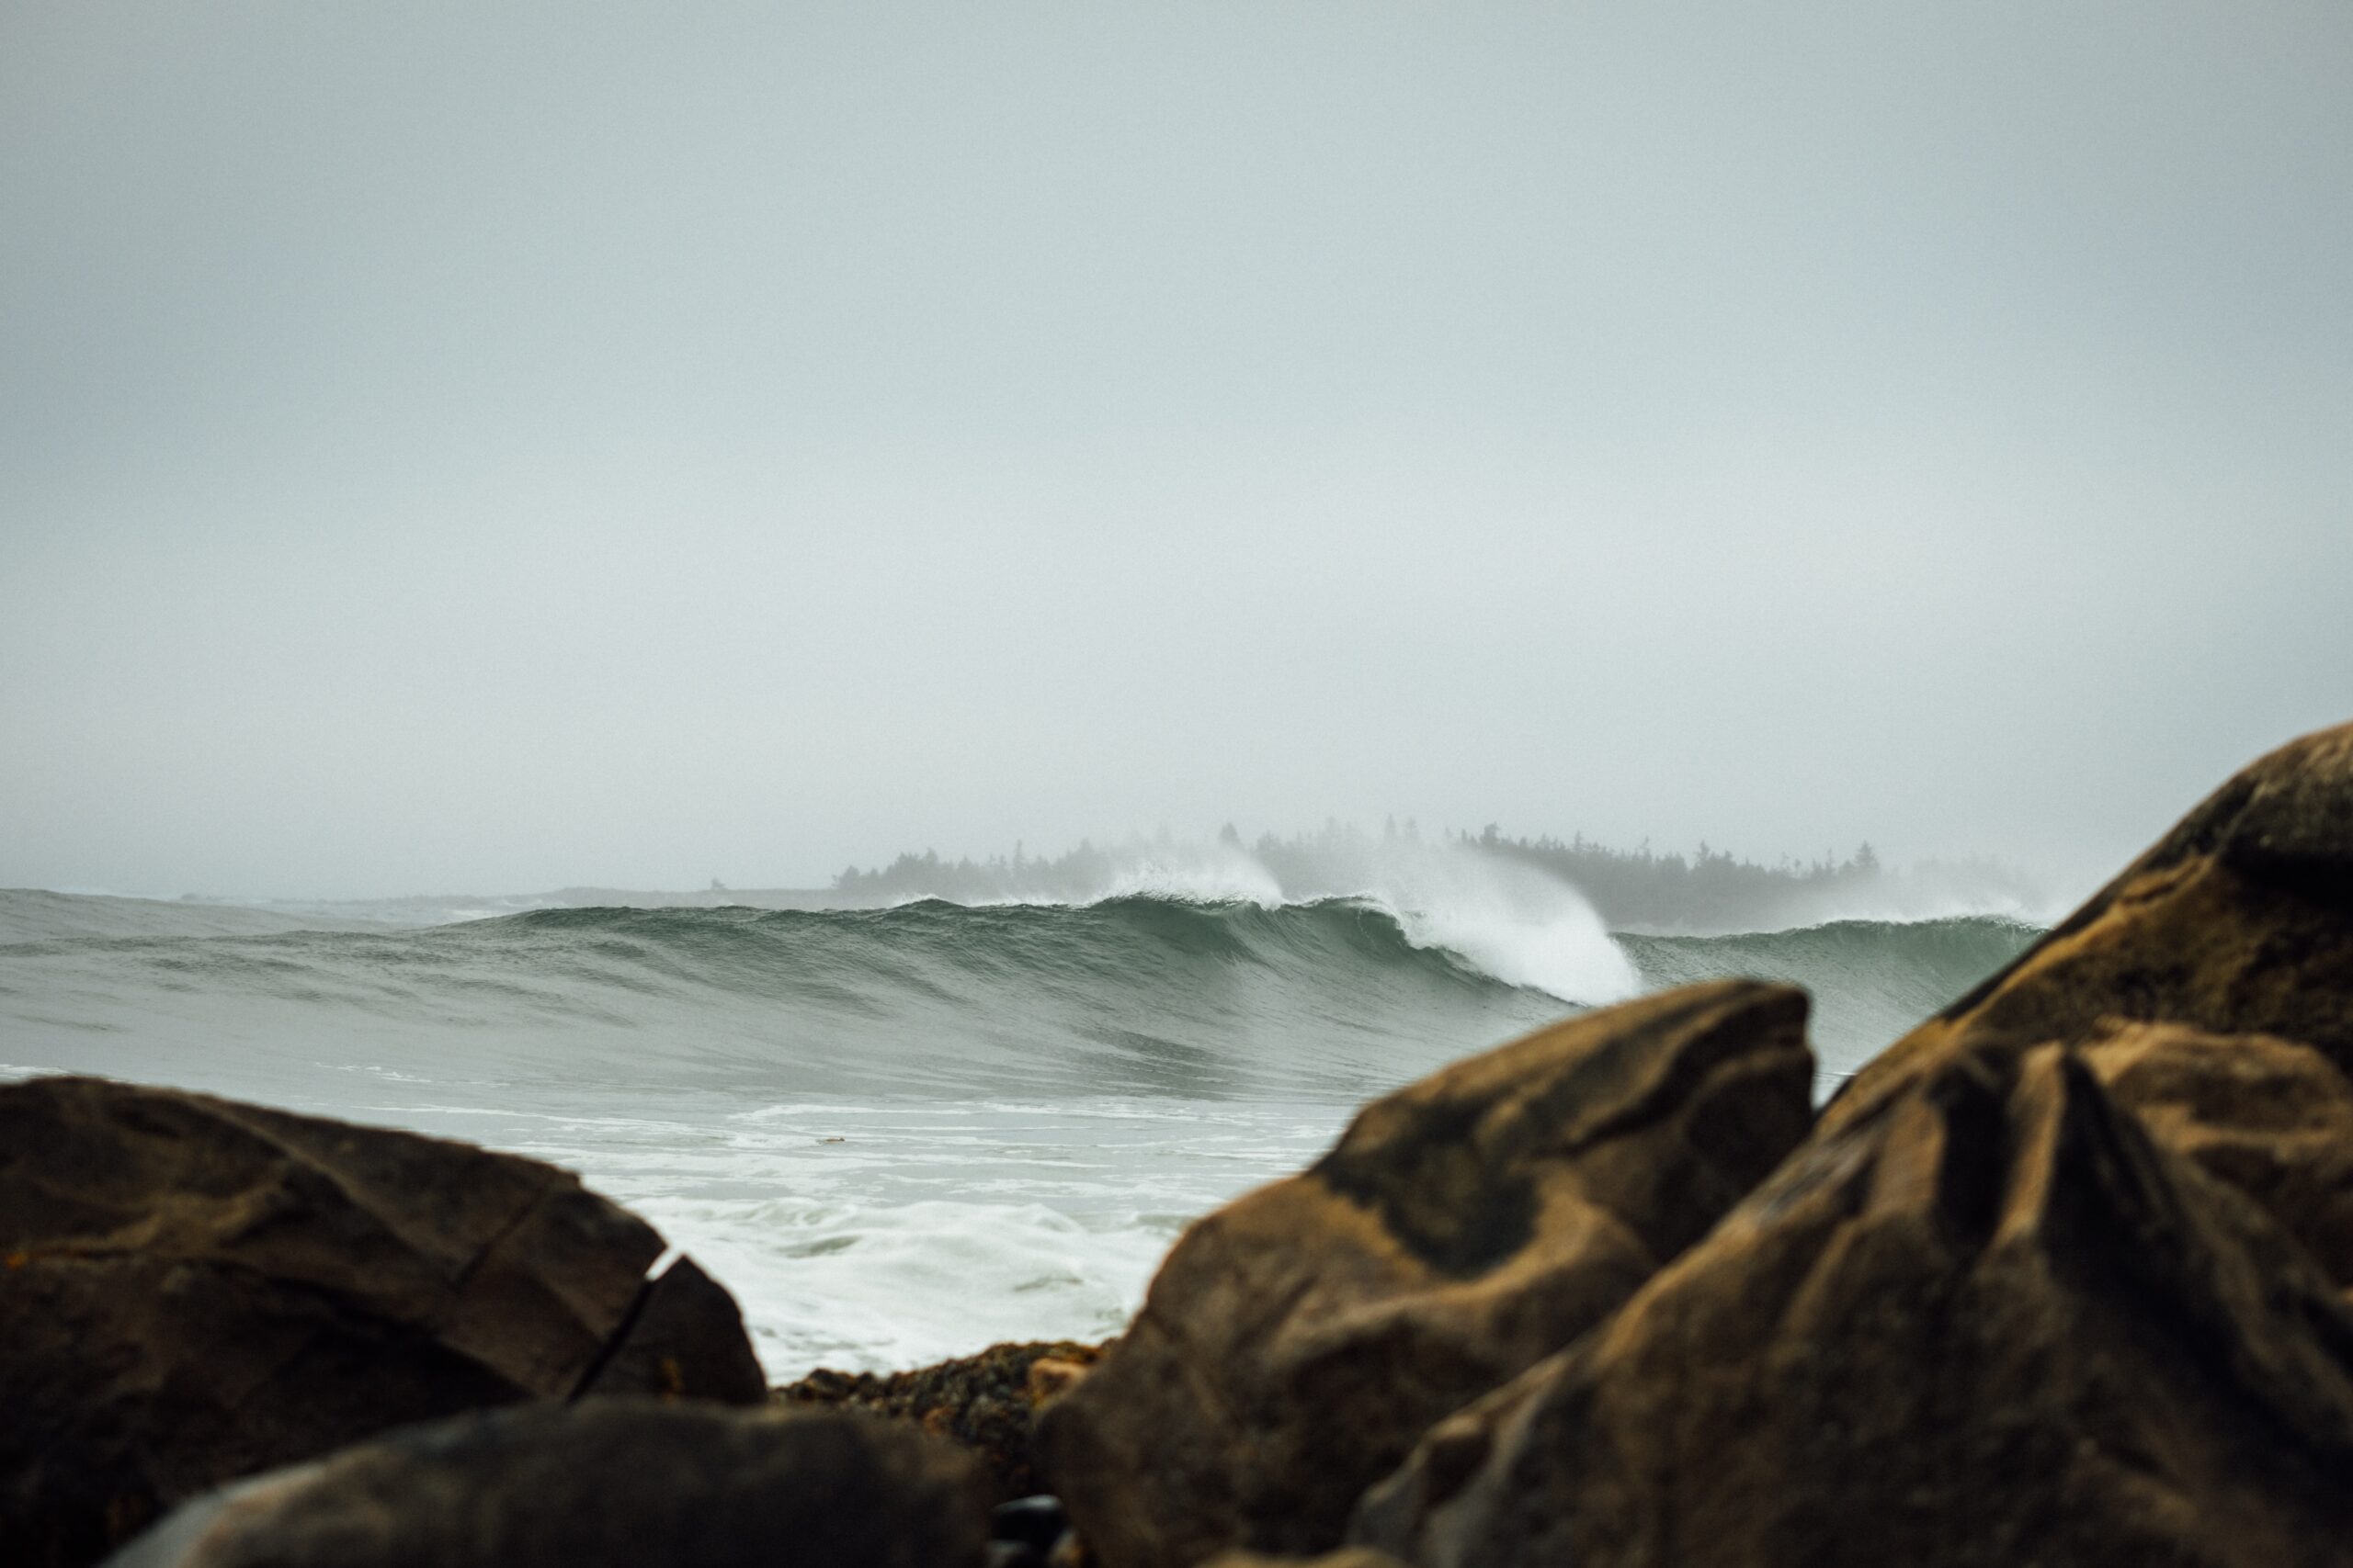
{"label": "small tan rock at right edge wedged between two larger boulders", "polygon": [[2353,1081],[2273,1034],[2120,1025],[2085,1046],[2148,1133],[2224,1180],[2353,1288]]}

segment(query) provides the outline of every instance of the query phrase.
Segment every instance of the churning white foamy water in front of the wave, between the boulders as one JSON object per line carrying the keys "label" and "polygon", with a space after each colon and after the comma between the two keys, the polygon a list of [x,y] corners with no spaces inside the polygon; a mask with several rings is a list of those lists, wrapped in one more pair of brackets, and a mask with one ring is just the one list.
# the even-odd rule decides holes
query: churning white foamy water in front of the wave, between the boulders
{"label": "churning white foamy water in front of the wave, between the boulders", "polygon": [[744,1307],[772,1378],[1000,1340],[1101,1340],[1186,1220],[1308,1164],[1332,1105],[793,1103],[565,1119],[506,1147],[581,1171]]}

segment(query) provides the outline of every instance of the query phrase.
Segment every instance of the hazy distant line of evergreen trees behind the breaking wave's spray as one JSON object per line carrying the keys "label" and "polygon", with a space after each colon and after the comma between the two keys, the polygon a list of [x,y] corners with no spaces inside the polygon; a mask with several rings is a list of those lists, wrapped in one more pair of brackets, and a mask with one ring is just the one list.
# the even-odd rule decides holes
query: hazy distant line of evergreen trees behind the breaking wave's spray
{"label": "hazy distant line of evergreen trees behind the breaking wave's spray", "polygon": [[1087,900],[1144,882],[1193,886],[1217,896],[1233,886],[1271,882],[1285,898],[1334,898],[1379,889],[1384,867],[1431,853],[1466,853],[1541,867],[1577,886],[1612,929],[1762,931],[1852,914],[1918,917],[1955,910],[2028,910],[2038,891],[1991,860],[1922,863],[1892,870],[1871,844],[1838,858],[1762,865],[1706,842],[1682,851],[1612,849],[1584,835],[1572,839],[1508,837],[1494,823],[1478,832],[1447,830],[1424,839],[1414,823],[1391,820],[1379,835],[1346,823],[1289,837],[1261,835],[1254,844],[1228,825],[1214,844],[1184,844],[1167,835],[1115,846],[1080,842],[1059,856],[941,860],[901,853],[878,870],[842,870],[833,891],[847,903],[948,898]]}

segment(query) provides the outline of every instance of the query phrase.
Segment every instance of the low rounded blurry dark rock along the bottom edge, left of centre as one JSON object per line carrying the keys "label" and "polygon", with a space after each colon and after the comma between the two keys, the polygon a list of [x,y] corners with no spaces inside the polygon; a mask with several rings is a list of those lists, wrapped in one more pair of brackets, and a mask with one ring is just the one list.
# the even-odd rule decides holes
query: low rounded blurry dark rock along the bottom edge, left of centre
{"label": "low rounded blurry dark rock along the bottom edge, left of centre", "polygon": [[407,1427],[188,1502],[111,1568],[981,1568],[951,1446],[864,1415],[591,1399]]}

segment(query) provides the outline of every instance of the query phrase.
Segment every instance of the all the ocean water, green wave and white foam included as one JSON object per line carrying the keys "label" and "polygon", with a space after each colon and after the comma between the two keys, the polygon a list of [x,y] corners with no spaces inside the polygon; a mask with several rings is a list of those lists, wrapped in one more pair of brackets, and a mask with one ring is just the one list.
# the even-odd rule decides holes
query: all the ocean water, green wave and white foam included
{"label": "all the ocean water, green wave and white foam included", "polygon": [[574,1168],[736,1293],[784,1380],[1115,1333],[1191,1218],[1581,1004],[1795,980],[1828,1088],[2035,936],[1612,936],[1525,893],[416,929],[0,893],[0,1077],[207,1088]]}

